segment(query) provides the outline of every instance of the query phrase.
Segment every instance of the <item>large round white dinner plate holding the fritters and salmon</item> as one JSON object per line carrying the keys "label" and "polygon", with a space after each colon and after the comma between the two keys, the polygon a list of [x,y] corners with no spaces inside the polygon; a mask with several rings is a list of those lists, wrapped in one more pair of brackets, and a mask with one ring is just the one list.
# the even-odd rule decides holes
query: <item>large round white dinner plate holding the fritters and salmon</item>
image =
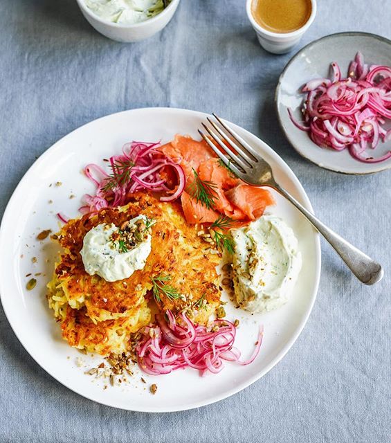
{"label": "large round white dinner plate holding the fritters and salmon", "polygon": [[[134,109],[95,120],[76,129],[48,149],[21,179],[6,208],[0,231],[0,292],[6,316],[33,359],[55,379],[80,395],[116,408],[147,412],[185,410],[210,404],[235,394],[266,374],[282,359],[300,334],[311,312],[320,275],[318,234],[284,199],[275,196],[273,213],[281,215],[295,230],[303,257],[303,266],[291,300],[265,315],[251,316],[226,305],[227,318],[239,318],[236,345],[243,358],[251,355],[258,325],[264,325],[264,342],[257,359],[247,366],[227,363],[217,375],[199,377],[195,370],[179,370],[160,377],[143,375],[136,370],[130,382],[104,388],[107,381],[84,374],[102,361],[100,356],[84,356],[62,340],[58,325],[46,302],[46,283],[51,280],[57,246],[50,239],[39,242],[44,229],[58,230],[55,214],[78,217],[80,198],[93,192],[93,185],[82,174],[87,163],[120,152],[131,140],[172,140],[176,133],[199,138],[197,128],[206,114],[183,109]],[[233,125],[248,143],[255,145],[273,166],[275,177],[304,206],[309,199],[289,167],[259,138]],[[61,186],[55,183],[61,182]],[[70,199],[70,195],[76,197]],[[32,258],[37,257],[37,263]],[[29,273],[41,272],[32,291],[26,290]],[[82,358],[84,367],[76,365]],[[141,383],[143,375],[147,383]],[[156,383],[152,395],[149,386]]]}

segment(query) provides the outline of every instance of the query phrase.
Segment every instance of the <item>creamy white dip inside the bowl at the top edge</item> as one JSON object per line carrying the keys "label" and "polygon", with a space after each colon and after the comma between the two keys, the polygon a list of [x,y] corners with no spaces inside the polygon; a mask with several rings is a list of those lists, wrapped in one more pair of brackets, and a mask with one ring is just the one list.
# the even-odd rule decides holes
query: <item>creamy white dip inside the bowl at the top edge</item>
{"label": "creamy white dip inside the bowl at the top edge", "polygon": [[120,24],[136,24],[158,15],[165,8],[163,0],[85,0],[101,19]]}

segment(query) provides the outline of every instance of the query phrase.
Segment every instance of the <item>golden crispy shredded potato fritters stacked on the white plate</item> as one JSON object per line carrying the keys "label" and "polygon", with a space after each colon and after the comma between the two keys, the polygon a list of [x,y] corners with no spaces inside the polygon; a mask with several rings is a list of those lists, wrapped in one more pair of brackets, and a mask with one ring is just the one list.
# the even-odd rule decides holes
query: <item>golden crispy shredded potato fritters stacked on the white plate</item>
{"label": "golden crispy shredded potato fritters stacked on the white plate", "polygon": [[[84,235],[99,224],[120,226],[141,214],[154,219],[152,251],[144,269],[116,282],[89,275],[80,255]],[[185,311],[192,320],[207,323],[219,305],[219,254],[210,253],[210,245],[186,223],[179,204],[135,194],[127,206],[69,220],[52,238],[63,253],[48,283],[48,303],[71,346],[102,355],[127,350],[130,335],[151,319],[147,302],[154,298],[152,279],[158,276],[168,275],[170,287],[179,294],[171,300],[158,293],[156,305],[163,312]]]}

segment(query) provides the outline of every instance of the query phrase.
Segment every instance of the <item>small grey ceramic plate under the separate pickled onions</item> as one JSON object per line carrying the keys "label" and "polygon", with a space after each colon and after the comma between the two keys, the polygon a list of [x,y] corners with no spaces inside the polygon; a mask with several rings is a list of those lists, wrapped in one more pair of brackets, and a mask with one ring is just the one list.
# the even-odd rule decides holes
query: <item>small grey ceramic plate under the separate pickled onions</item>
{"label": "small grey ceramic plate under the separate pickled onions", "polygon": [[[275,91],[280,125],[289,142],[305,159],[316,163],[321,168],[345,174],[370,174],[391,168],[391,159],[381,163],[363,163],[354,159],[348,152],[330,150],[319,147],[307,132],[293,125],[288,115],[288,108],[300,121],[300,107],[304,94],[300,93],[302,86],[313,78],[329,78],[331,62],[337,62],[342,75],[347,75],[349,62],[360,51],[366,63],[385,64],[391,66],[391,41],[367,33],[339,33],[322,37],[302,48],[294,55],[280,75]],[[391,150],[391,141],[379,142],[372,156],[380,157]],[[369,156],[368,155],[368,156]]]}

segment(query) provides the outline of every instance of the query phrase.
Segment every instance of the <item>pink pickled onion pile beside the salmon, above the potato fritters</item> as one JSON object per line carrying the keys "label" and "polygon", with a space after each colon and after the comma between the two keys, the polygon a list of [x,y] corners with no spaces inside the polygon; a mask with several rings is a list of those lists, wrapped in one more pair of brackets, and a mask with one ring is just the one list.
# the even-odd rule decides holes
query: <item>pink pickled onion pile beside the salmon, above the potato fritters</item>
{"label": "pink pickled onion pile beside the salmon, above the potato fritters", "polygon": [[[83,197],[82,213],[96,213],[102,208],[127,204],[129,194],[140,190],[163,192],[161,201],[173,201],[185,189],[185,174],[180,165],[158,151],[159,143],[134,141],[122,147],[122,154],[111,156],[107,161],[109,175],[100,166],[90,163],[84,174],[96,186],[96,194]],[[162,172],[172,170],[177,186],[170,189]]]}

